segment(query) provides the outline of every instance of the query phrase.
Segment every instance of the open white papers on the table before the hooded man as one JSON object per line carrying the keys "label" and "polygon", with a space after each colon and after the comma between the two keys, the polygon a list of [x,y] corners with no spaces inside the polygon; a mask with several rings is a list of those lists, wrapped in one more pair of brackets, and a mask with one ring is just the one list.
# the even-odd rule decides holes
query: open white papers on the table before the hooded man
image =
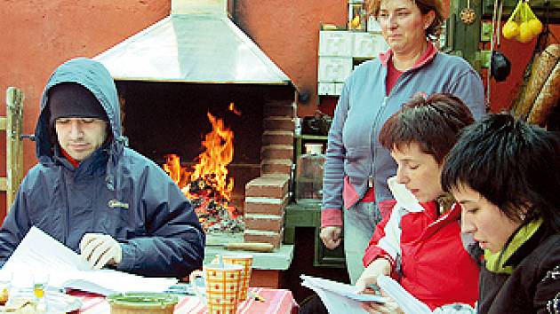
{"label": "open white papers on the table before the hooded man", "polygon": [[88,263],[36,226],[31,227],[0,272],[12,272],[12,286],[26,287],[26,275],[49,273],[49,286],[96,294],[130,291],[164,292],[178,279],[146,278],[123,271],[91,270]]}

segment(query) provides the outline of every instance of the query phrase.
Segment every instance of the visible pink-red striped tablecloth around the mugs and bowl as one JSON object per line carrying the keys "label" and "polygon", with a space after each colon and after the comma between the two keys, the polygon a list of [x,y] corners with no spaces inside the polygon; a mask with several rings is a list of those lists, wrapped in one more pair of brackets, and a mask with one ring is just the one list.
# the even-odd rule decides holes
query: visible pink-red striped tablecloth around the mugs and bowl
{"label": "visible pink-red striped tablecloth around the mugs and bowl", "polygon": [[[285,289],[271,289],[263,287],[250,287],[253,294],[262,296],[264,301],[253,298],[239,303],[237,314],[296,314],[298,303],[293,299],[292,291]],[[109,304],[102,295],[88,294],[81,291],[71,291],[82,301],[82,307],[77,310],[81,314],[108,314]],[[206,306],[196,296],[181,297],[175,306],[174,314],[203,314],[207,313]]]}

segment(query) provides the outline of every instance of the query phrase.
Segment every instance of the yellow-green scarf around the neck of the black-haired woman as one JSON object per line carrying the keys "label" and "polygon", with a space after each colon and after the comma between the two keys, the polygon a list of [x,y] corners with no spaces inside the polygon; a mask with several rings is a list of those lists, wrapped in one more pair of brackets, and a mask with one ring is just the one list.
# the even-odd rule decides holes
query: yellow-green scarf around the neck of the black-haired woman
{"label": "yellow-green scarf around the neck of the black-haired woman", "polygon": [[527,239],[539,230],[542,224],[542,218],[532,220],[529,224],[517,230],[511,241],[500,252],[492,253],[490,250],[484,250],[484,260],[486,261],[486,269],[495,273],[511,274],[514,269],[511,266],[504,266],[509,257],[516,253],[516,250],[521,247]]}

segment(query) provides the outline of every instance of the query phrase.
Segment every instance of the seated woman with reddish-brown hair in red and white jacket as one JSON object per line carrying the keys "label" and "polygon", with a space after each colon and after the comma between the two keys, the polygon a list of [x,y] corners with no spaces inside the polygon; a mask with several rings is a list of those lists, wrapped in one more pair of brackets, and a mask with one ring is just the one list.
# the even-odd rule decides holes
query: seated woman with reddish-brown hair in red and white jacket
{"label": "seated woman with reddish-brown hair in red and white jacket", "polygon": [[[460,205],[440,183],[445,155],[472,122],[459,98],[434,94],[413,98],[383,125],[380,143],[397,164],[396,177],[388,180],[396,201],[375,228],[356,287],[366,290],[384,274],[432,310],[453,302],[474,305],[479,267],[467,247],[476,245],[461,239]],[[364,309],[400,310],[395,302],[366,303]]]}

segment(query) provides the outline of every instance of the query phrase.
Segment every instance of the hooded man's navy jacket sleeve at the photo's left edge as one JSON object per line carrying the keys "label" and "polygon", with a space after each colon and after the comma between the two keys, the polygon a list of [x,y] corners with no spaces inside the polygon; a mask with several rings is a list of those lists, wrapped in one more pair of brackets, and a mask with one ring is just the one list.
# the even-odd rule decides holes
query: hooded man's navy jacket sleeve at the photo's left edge
{"label": "hooded man's navy jacket sleeve at the photo's left edge", "polygon": [[21,239],[28,233],[31,228],[28,216],[28,208],[24,191],[27,184],[27,177],[20,184],[20,189],[16,194],[16,198],[10,207],[10,211],[4,219],[2,228],[0,228],[0,267],[8,261],[13,251],[18,247]]}

